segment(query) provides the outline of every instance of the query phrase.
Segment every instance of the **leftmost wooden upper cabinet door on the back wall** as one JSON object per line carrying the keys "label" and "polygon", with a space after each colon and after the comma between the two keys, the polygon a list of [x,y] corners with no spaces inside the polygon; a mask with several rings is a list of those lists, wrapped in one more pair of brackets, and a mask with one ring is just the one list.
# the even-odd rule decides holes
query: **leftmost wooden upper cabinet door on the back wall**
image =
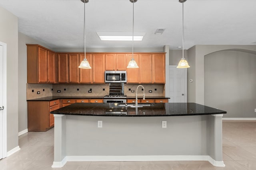
{"label": "leftmost wooden upper cabinet door on the back wall", "polygon": [[58,82],[68,82],[68,54],[58,54]]}

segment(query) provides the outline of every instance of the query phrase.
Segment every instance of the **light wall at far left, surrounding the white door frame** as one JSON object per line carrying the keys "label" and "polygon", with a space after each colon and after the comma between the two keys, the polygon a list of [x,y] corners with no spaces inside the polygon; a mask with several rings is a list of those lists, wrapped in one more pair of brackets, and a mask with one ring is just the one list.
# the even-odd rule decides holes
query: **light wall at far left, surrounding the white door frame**
{"label": "light wall at far left, surrounding the white door frame", "polygon": [[0,41],[7,44],[7,152],[18,147],[18,18],[0,7]]}

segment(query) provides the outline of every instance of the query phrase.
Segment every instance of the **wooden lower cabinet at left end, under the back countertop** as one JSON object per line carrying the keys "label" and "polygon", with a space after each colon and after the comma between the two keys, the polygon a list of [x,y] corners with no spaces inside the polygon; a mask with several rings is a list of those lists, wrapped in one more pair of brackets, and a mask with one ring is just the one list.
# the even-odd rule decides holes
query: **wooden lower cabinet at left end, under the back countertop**
{"label": "wooden lower cabinet at left end, under the back countertop", "polygon": [[28,101],[28,131],[47,131],[54,126],[54,111],[60,108],[60,100]]}

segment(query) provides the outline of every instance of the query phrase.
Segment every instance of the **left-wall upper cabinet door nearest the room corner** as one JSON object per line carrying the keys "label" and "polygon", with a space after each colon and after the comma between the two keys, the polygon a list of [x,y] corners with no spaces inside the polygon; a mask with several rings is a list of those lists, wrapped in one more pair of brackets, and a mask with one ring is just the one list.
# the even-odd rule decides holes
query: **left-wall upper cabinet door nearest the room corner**
{"label": "left-wall upper cabinet door nearest the room corner", "polygon": [[56,83],[55,53],[48,51],[48,83]]}

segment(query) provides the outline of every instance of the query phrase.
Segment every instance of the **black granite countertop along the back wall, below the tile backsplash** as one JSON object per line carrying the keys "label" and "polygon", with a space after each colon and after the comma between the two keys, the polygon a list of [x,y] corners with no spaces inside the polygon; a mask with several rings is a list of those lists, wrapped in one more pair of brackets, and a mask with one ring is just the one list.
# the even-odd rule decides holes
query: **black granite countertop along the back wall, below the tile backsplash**
{"label": "black granite countertop along the back wall, below the tile backsplash", "polygon": [[[51,101],[56,99],[103,99],[104,96],[49,96],[44,98],[29,99],[27,101]],[[138,96],[138,99],[142,99],[142,96]],[[145,96],[146,99],[170,99],[164,96]],[[110,99],[110,98],[108,98]],[[135,96],[127,96],[126,98],[118,99],[135,99]]]}

